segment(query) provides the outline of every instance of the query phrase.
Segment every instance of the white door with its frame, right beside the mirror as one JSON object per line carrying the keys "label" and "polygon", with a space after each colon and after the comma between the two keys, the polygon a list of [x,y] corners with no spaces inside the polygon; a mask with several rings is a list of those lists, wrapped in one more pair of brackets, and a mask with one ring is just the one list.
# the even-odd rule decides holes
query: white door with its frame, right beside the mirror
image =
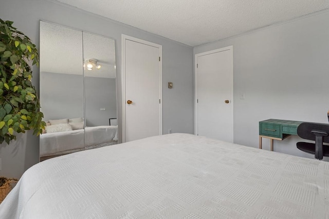
{"label": "white door with its frame, right beside the mirror", "polygon": [[162,48],[122,35],[122,141],[162,134]]}

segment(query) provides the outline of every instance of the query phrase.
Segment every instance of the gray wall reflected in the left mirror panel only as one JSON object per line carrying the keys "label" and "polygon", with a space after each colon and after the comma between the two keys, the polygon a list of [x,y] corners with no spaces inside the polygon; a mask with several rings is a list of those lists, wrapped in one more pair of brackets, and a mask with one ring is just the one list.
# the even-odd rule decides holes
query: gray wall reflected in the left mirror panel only
{"label": "gray wall reflected in the left mirror panel only", "polygon": [[40,104],[44,121],[83,117],[83,76],[41,72]]}

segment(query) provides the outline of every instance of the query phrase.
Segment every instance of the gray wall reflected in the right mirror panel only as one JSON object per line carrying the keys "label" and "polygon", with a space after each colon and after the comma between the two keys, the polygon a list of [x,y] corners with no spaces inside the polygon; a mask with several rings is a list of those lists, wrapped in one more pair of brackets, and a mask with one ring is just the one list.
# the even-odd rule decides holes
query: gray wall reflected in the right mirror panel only
{"label": "gray wall reflected in the right mirror panel only", "polygon": [[117,117],[116,79],[84,77],[84,85],[86,126],[108,126]]}

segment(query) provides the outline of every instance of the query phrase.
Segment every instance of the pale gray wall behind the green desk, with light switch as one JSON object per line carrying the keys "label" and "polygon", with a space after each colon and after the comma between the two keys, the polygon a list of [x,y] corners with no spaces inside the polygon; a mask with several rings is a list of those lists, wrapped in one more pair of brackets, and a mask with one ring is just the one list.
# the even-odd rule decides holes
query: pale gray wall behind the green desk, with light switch
{"label": "pale gray wall behind the green desk, with light switch", "polygon": [[[329,12],[194,48],[194,54],[233,45],[234,143],[259,145],[258,122],[268,118],[328,123]],[[245,99],[240,99],[245,93]],[[314,157],[290,136],[274,150]],[[263,140],[269,150],[269,140]],[[326,158],[328,161],[328,159]]]}

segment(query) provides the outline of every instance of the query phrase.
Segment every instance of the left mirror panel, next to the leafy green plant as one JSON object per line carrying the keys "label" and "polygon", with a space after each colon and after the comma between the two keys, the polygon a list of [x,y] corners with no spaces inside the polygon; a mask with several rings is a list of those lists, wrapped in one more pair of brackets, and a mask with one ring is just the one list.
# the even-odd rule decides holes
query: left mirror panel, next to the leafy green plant
{"label": "left mirror panel, next to the leafy green plant", "polygon": [[81,31],[40,22],[40,104],[47,123],[40,157],[84,149],[83,125],[72,130],[69,124],[84,116],[82,61]]}

